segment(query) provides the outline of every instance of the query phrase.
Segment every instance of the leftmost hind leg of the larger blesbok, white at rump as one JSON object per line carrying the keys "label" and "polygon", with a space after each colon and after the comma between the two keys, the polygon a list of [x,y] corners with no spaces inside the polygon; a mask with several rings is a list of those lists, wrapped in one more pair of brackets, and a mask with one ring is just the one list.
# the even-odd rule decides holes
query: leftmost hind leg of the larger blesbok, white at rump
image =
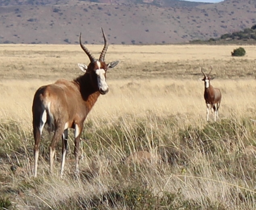
{"label": "leftmost hind leg of the larger blesbok, white at rump", "polygon": [[35,139],[35,146],[34,146],[34,177],[37,177],[37,163],[38,163],[38,157],[39,157],[39,145],[41,140],[42,131],[44,128],[44,125],[46,123],[46,110],[42,113],[41,119],[36,119],[35,115],[33,113],[33,136]]}

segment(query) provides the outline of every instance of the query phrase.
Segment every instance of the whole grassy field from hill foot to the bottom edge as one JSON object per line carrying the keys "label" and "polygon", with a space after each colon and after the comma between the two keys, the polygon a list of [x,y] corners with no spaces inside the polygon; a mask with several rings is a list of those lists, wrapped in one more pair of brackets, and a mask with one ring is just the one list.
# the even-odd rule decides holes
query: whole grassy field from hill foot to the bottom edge
{"label": "whole grassy field from hill foot to the bottom edge", "polygon": [[[1,45],[0,209],[255,209],[256,47],[243,47],[246,56],[234,58],[237,46],[110,46],[106,60],[121,62],[85,121],[81,177],[71,131],[62,180],[60,144],[48,174],[47,132],[31,177],[33,94],[81,75],[77,63],[88,59],[78,45]],[[210,66],[223,94],[216,123],[213,114],[206,123],[200,81]],[[141,150],[150,158],[126,159]]]}

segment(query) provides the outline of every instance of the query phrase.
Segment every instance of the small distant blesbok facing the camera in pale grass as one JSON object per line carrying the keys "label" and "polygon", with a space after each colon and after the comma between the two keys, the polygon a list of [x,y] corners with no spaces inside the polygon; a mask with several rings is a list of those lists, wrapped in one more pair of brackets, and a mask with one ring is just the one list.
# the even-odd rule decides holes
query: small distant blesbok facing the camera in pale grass
{"label": "small distant blesbok facing the camera in pale grass", "polygon": [[201,71],[204,75],[204,79],[202,79],[202,81],[204,81],[204,99],[207,107],[206,120],[209,121],[209,109],[211,108],[211,110],[214,110],[214,121],[216,121],[216,118],[219,116],[218,112],[221,105],[221,91],[218,88],[214,88],[212,85],[210,85],[210,80],[214,79],[214,77],[210,77],[212,67],[207,76],[204,74],[202,68]]}

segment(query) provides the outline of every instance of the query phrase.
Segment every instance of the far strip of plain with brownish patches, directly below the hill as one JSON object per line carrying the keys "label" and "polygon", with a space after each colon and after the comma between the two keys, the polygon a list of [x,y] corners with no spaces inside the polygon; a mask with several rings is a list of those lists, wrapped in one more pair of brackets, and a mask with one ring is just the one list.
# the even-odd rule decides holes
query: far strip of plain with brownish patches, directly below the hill
{"label": "far strip of plain with brownish patches, directly below the hill", "polygon": [[[102,46],[88,45],[96,56]],[[198,78],[199,68],[210,68],[222,78],[252,77],[255,73],[254,46],[244,46],[246,56],[232,58],[237,46],[110,45],[107,61],[121,60],[118,68],[108,73],[109,79],[123,78]],[[96,56],[97,57],[97,56]],[[1,45],[0,76],[2,79],[55,80],[80,75],[77,63],[88,64],[79,45]]]}

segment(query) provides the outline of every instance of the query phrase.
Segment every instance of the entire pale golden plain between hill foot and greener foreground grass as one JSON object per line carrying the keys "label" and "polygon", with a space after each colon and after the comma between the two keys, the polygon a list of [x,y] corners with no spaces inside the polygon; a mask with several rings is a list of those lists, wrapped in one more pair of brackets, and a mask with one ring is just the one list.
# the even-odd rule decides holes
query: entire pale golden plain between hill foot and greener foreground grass
{"label": "entire pale golden plain between hill foot and greener foreground grass", "polygon": [[[88,48],[94,54],[102,50],[102,46]],[[245,57],[232,58],[233,48],[236,46],[110,45],[106,60],[120,59],[121,63],[108,73],[110,92],[100,96],[89,117],[109,119],[154,112],[181,114],[185,120],[204,118],[200,67],[209,70],[210,65],[216,74],[212,85],[223,93],[221,117],[229,116],[230,110],[237,110],[238,115],[252,111],[256,48],[245,46]],[[38,87],[62,77],[73,79],[81,75],[77,63],[88,63],[78,45],[2,45],[0,58],[0,118],[27,122],[31,122],[31,104]]]}

